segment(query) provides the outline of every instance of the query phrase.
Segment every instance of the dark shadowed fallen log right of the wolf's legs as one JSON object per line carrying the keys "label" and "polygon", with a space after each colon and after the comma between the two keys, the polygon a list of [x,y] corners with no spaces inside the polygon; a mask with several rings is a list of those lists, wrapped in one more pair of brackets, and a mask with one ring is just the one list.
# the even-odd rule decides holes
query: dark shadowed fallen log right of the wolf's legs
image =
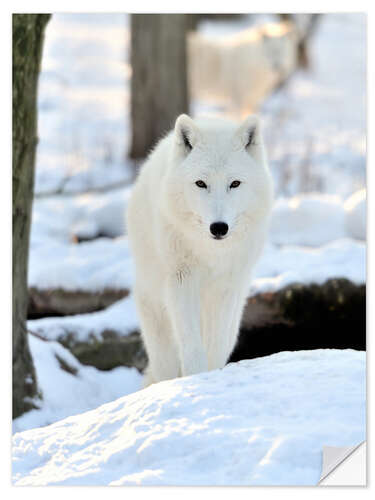
{"label": "dark shadowed fallen log right of the wolf's legs", "polygon": [[330,279],[250,297],[230,361],[310,349],[366,350],[364,284]]}

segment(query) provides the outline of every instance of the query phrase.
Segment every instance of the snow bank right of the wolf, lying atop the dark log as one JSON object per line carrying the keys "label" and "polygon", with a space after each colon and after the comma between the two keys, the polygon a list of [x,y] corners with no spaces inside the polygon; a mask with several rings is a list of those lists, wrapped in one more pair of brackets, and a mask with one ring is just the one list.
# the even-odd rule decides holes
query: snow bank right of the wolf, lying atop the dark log
{"label": "snow bank right of the wolf, lying atop the dark log", "polygon": [[366,244],[358,240],[366,240],[365,190],[345,202],[322,193],[279,198],[250,295],[291,283],[322,284],[331,278],[365,283]]}

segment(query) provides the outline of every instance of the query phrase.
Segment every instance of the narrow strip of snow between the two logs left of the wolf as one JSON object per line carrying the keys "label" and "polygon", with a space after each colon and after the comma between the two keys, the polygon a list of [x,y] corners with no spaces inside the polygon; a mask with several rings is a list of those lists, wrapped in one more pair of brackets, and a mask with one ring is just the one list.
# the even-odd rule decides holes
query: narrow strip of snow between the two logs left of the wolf
{"label": "narrow strip of snow between the two logs left of the wolf", "polygon": [[91,338],[103,339],[103,332],[116,332],[126,336],[139,331],[139,322],[133,297],[130,295],[107,307],[103,311],[75,314],[56,318],[42,318],[27,322],[28,329],[47,340],[58,340],[71,334],[75,342]]}

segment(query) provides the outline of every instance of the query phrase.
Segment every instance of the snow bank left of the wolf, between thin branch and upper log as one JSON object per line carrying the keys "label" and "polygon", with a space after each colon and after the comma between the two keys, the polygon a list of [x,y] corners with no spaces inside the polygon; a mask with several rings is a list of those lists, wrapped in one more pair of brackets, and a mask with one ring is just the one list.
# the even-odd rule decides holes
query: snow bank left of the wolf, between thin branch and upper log
{"label": "snow bank left of the wolf, between thin branch and upper log", "polygon": [[[53,196],[33,204],[29,286],[39,289],[129,289],[133,270],[125,233],[130,189]],[[76,244],[76,238],[106,237]]]}

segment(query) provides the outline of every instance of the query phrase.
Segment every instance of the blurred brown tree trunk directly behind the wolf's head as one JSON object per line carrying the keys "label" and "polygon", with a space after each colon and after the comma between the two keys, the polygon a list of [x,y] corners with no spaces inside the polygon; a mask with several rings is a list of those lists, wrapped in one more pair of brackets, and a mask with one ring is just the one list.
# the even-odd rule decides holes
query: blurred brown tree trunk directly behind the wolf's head
{"label": "blurred brown tree trunk directly behind the wolf's head", "polygon": [[188,112],[185,14],[131,16],[131,158],[143,158]]}

